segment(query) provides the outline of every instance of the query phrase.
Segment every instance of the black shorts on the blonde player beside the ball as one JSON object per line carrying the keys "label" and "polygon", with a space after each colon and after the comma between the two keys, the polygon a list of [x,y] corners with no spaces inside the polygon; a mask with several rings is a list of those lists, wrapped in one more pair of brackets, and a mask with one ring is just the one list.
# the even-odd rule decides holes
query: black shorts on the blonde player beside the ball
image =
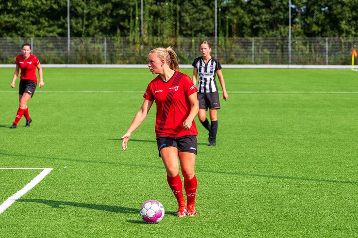
{"label": "black shorts on the blonde player beside the ball", "polygon": [[157,145],[159,151],[159,157],[161,156],[161,150],[168,146],[174,146],[181,152],[191,152],[197,154],[197,140],[196,136],[183,136],[179,138],[172,138],[167,136],[161,136],[157,138]]}

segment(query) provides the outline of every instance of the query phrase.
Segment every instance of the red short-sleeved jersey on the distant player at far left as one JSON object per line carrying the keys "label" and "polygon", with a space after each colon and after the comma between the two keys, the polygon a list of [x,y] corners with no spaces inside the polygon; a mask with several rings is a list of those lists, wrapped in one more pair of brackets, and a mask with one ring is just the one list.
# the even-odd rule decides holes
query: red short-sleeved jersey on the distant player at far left
{"label": "red short-sleeved jersey on the distant player at far left", "polygon": [[30,55],[29,58],[25,60],[21,54],[16,57],[15,63],[20,66],[21,69],[20,79],[33,80],[37,83],[36,65],[39,64],[40,61],[36,56]]}

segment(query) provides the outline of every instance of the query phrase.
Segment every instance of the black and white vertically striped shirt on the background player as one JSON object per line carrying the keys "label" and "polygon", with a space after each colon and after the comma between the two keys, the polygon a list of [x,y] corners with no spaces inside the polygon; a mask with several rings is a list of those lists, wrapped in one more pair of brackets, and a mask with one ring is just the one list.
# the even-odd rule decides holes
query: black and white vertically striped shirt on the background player
{"label": "black and white vertically striped shirt on the background player", "polygon": [[217,91],[215,81],[216,71],[221,69],[219,61],[211,58],[204,63],[203,57],[196,58],[192,64],[199,73],[197,89],[199,93],[212,93]]}

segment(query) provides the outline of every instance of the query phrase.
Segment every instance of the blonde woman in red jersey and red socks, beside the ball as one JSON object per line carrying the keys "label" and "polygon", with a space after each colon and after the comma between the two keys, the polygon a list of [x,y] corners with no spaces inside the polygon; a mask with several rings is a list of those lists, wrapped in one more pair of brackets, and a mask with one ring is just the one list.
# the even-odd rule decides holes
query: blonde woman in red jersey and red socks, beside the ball
{"label": "blonde woman in red jersey and red socks, beside the ball", "polygon": [[[148,67],[152,74],[159,74],[147,89],[141,109],[135,115],[126,134],[122,149],[127,148],[131,133],[143,122],[155,101],[157,105],[155,132],[159,156],[162,157],[169,187],[177,198],[177,216],[196,216],[195,210],[195,155],[197,130],[194,118],[199,111],[197,89],[189,76],[178,71],[177,55],[172,48],[155,48],[148,54]],[[179,162],[184,177],[184,200],[179,176]]]}

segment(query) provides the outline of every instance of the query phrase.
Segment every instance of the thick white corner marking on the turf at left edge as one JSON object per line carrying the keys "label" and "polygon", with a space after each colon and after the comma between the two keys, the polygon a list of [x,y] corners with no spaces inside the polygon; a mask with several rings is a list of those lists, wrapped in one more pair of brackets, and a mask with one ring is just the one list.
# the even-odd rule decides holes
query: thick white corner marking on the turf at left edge
{"label": "thick white corner marking on the turf at left edge", "polygon": [[19,199],[26,192],[30,191],[35,187],[46,175],[51,172],[52,168],[0,168],[0,169],[42,169],[43,171],[38,174],[30,183],[26,184],[25,187],[18,190],[14,195],[9,197],[0,205],[0,214],[3,213],[9,206],[11,206],[17,199]]}

